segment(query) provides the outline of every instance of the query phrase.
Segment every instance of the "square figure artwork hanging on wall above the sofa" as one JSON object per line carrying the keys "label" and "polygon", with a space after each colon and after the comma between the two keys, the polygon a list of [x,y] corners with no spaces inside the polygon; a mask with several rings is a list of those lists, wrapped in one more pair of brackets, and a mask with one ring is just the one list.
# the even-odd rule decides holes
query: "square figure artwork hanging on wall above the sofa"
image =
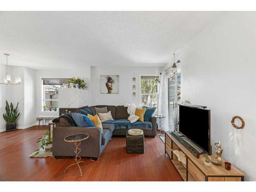
{"label": "square figure artwork hanging on wall above the sofa", "polygon": [[119,75],[100,75],[100,93],[119,93]]}

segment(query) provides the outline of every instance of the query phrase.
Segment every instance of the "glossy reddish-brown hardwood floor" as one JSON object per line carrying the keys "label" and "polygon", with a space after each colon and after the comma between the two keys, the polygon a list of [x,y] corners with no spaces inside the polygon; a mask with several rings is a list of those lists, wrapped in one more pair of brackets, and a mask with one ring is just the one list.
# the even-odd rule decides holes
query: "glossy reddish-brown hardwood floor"
{"label": "glossy reddish-brown hardwood floor", "polygon": [[28,157],[39,148],[35,140],[45,129],[33,126],[0,133],[1,181],[182,181],[158,136],[145,137],[144,154],[126,154],[125,137],[113,137],[97,161],[82,158],[82,177],[76,166],[64,173],[74,159]]}

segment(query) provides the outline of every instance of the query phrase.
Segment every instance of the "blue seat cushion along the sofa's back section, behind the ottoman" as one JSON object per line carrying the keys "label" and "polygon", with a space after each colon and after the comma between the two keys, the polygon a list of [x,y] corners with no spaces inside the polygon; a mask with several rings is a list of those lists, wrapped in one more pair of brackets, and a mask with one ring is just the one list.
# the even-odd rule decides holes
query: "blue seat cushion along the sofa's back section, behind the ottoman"
{"label": "blue seat cushion along the sofa's back section, behind the ottoman", "polygon": [[136,121],[135,123],[131,123],[128,119],[118,119],[118,120],[104,121],[104,123],[114,124],[115,130],[120,130],[120,129],[152,130],[152,123],[148,121],[145,121],[145,122]]}

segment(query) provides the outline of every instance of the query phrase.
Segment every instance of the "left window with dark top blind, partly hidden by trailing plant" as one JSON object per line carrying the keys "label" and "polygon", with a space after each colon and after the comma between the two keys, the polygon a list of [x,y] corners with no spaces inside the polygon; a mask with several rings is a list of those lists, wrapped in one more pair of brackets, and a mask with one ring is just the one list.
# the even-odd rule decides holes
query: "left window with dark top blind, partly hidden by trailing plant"
{"label": "left window with dark top blind, partly hidden by trailing plant", "polygon": [[42,111],[58,111],[58,89],[67,80],[42,78]]}

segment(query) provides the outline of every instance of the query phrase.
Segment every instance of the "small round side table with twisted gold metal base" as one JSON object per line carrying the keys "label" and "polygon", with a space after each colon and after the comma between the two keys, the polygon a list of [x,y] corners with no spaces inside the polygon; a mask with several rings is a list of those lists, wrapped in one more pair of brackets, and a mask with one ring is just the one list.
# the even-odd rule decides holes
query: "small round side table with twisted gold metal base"
{"label": "small round side table with twisted gold metal base", "polygon": [[[67,137],[64,138],[64,141],[65,142],[68,142],[68,143],[74,143],[75,144],[75,163],[69,165],[65,170],[64,172],[66,172],[66,170],[72,166],[72,165],[77,165],[79,170],[80,170],[80,176],[82,177],[82,170],[81,170],[81,167],[79,165],[79,163],[83,163],[83,164],[86,164],[84,161],[81,161],[81,157],[78,156],[78,154],[81,152],[81,149],[79,148],[79,145],[81,144],[81,141],[84,141],[86,139],[89,138],[89,135],[88,134],[73,134],[73,135],[69,135]],[[77,160],[78,159],[78,160]]]}

